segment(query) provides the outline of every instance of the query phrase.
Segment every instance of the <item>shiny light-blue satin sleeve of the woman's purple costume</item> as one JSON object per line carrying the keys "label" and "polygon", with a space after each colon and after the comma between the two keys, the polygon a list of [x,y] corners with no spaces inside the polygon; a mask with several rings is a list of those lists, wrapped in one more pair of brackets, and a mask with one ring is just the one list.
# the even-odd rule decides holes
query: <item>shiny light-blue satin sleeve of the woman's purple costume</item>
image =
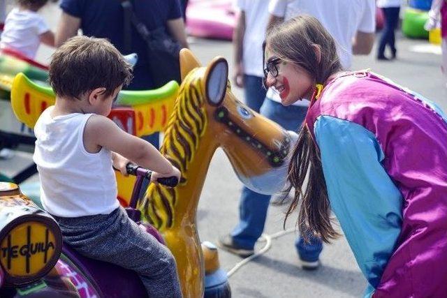
{"label": "shiny light-blue satin sleeve of the woman's purple costume", "polygon": [[332,211],[360,270],[379,285],[402,225],[402,194],[381,165],[376,137],[351,121],[320,116],[314,126]]}

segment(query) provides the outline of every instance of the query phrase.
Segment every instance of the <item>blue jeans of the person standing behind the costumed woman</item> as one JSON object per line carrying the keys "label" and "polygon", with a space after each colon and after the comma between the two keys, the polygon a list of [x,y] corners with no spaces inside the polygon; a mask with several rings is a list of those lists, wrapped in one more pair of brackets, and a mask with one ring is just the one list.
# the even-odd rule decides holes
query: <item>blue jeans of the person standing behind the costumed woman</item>
{"label": "blue jeans of the person standing behind the costumed woman", "polygon": [[[307,107],[291,105],[284,107],[281,103],[265,98],[261,106],[261,114],[288,131],[298,131],[304,121]],[[256,240],[261,237],[264,230],[265,218],[270,202],[270,195],[261,195],[244,187],[239,205],[239,223],[231,232],[233,241],[237,246],[253,249]],[[321,239],[309,237],[310,243],[306,244],[300,237],[295,241],[298,255],[302,260],[314,262],[318,260],[323,244]]]}

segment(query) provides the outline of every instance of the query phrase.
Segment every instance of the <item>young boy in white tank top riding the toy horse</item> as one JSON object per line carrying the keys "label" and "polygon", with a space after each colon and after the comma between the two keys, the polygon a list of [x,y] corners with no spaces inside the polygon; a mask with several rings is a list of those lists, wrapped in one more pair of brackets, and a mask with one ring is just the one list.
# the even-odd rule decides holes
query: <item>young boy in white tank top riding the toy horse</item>
{"label": "young boy in white tank top riding the toy horse", "polygon": [[154,170],[152,181],[180,177],[152,144],[106,117],[131,76],[129,64],[105,39],[77,36],[54,52],[49,81],[56,103],[34,128],[41,200],[79,253],[136,271],[149,297],[182,297],[173,255],[117,201],[112,165],[125,174],[133,161]]}

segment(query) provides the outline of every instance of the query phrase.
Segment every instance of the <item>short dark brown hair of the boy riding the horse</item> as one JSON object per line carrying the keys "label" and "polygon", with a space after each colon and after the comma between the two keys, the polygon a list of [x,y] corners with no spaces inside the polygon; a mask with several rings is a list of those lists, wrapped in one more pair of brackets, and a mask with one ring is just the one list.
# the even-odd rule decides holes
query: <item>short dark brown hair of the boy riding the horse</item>
{"label": "short dark brown hair of the boy riding the horse", "polygon": [[110,96],[131,82],[132,68],[106,39],[75,36],[52,54],[48,81],[57,96],[78,98],[105,87]]}

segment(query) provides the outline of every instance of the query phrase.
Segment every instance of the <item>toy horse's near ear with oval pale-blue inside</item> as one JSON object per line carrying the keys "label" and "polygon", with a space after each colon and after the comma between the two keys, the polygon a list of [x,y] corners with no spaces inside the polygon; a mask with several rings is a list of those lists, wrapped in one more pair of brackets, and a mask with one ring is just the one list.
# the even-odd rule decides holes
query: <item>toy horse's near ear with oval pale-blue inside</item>
{"label": "toy horse's near ear with oval pale-blue inside", "polygon": [[223,57],[214,58],[205,71],[205,94],[211,105],[220,105],[226,93],[228,63]]}

